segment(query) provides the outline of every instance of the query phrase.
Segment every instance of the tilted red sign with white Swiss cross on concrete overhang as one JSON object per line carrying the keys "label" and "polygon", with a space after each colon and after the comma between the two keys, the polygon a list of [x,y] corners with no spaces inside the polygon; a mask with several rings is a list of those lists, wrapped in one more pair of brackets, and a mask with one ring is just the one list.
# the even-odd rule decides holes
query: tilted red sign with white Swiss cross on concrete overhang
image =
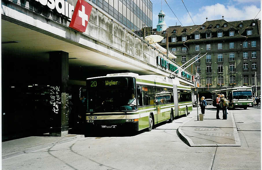
{"label": "tilted red sign with white Swiss cross on concrete overhang", "polygon": [[82,33],[85,32],[91,11],[92,5],[85,0],[78,0],[69,27]]}

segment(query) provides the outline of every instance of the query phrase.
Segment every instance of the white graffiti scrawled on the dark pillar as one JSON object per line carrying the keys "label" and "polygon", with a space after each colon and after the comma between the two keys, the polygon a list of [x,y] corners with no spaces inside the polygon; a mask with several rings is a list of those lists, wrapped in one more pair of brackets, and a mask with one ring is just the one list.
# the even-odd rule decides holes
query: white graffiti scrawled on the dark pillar
{"label": "white graffiti scrawled on the dark pillar", "polygon": [[58,113],[59,105],[61,105],[60,87],[50,87],[50,104],[54,113]]}

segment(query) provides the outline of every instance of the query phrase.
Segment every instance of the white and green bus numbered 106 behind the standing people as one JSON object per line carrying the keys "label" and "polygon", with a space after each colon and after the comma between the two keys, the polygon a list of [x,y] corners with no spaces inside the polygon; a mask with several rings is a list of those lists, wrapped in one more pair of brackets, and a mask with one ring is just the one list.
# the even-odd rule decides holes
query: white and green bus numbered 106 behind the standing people
{"label": "white and green bus numbered 106 behind the standing people", "polygon": [[228,108],[244,108],[253,107],[252,88],[247,86],[237,86],[232,88],[224,88],[212,91],[213,106],[216,106],[217,94],[224,94],[228,99]]}

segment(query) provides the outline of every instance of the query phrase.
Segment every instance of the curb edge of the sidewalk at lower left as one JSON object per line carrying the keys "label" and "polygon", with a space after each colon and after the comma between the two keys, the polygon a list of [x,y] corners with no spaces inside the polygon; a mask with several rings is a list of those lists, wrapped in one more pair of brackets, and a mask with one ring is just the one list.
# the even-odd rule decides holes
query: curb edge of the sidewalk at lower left
{"label": "curb edge of the sidewalk at lower left", "polygon": [[21,155],[21,154],[25,154],[25,153],[29,153],[29,152],[34,152],[36,150],[40,150],[40,149],[43,149],[43,148],[49,148],[49,147],[52,147],[52,146],[55,146],[55,145],[74,141],[74,140],[77,140],[77,139],[82,139],[84,137],[85,137],[84,135],[77,135],[75,137],[70,137],[70,138],[63,137],[61,140],[56,141],[56,142],[40,144],[38,146],[32,146],[30,148],[25,148],[24,150],[21,150],[21,151],[12,153],[12,154],[5,154],[4,156],[2,156],[2,160],[6,159],[6,158],[13,157],[13,156],[17,156],[17,155]]}

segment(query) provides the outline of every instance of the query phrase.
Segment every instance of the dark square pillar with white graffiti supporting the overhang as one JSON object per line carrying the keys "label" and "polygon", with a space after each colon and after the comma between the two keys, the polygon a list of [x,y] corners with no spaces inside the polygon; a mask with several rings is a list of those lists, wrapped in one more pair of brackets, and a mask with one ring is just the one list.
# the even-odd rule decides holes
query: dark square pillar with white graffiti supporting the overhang
{"label": "dark square pillar with white graffiti supporting the overhang", "polygon": [[67,82],[69,80],[68,53],[54,51],[49,53],[50,63],[50,136],[65,136],[68,134],[69,95]]}

